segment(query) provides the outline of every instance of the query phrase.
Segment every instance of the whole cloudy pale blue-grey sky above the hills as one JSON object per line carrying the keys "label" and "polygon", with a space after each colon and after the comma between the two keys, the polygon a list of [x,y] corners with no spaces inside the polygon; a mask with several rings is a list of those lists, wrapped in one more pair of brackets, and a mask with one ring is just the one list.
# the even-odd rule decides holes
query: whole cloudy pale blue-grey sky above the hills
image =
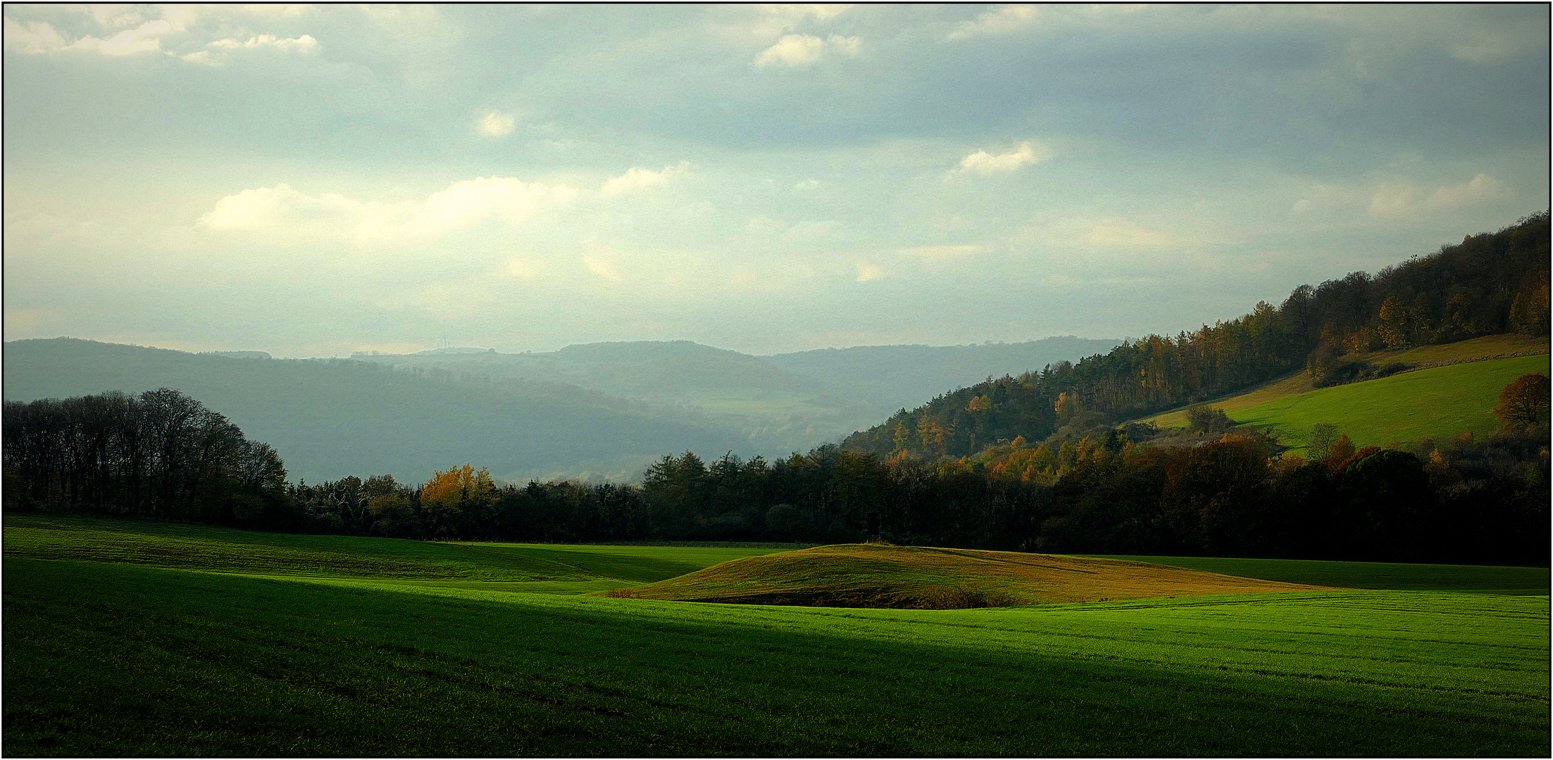
{"label": "whole cloudy pale blue-grey sky above the hills", "polygon": [[1173,335],[1548,208],[1548,14],[6,5],[5,340]]}

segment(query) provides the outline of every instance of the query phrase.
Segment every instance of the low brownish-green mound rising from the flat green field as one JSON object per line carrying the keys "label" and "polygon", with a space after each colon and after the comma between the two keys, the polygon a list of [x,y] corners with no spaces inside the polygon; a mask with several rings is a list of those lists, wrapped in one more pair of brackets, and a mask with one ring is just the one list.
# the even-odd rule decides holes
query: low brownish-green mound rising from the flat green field
{"label": "low brownish-green mound rising from the flat green field", "polygon": [[601,596],[745,605],[958,610],[1115,599],[1312,591],[1273,580],[1050,554],[834,544],[714,565]]}

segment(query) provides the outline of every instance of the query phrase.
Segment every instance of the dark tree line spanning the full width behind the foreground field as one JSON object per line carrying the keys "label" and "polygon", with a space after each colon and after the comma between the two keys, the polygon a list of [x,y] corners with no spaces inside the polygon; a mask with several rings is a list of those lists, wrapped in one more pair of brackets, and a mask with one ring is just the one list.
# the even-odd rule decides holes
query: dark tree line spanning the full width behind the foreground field
{"label": "dark tree line spanning the full width behind the foreground field", "polygon": [[[1051,447],[1017,437],[921,462],[834,444],[767,462],[665,456],[634,484],[497,484],[472,465],[426,484],[289,484],[264,444],[177,391],[5,405],[6,509],[275,530],[492,541],[800,541],[1062,554],[1548,561],[1547,377],[1506,388],[1506,427],[1311,459],[1193,416],[1196,447],[1124,428]],[[870,535],[870,523],[877,534]]]}

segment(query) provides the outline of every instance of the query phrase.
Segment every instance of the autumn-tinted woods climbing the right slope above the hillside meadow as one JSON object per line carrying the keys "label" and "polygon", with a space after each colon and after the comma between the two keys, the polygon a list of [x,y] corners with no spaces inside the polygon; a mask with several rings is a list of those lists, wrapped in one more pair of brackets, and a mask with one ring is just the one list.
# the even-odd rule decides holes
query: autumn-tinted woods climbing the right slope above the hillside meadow
{"label": "autumn-tinted woods climbing the right slope above the hillside meadow", "polygon": [[1502,332],[1548,333],[1547,211],[1374,276],[1300,285],[1281,306],[1263,301],[1227,323],[988,378],[901,409],[843,445],[926,461],[968,456],[1017,436],[1078,434],[1202,402],[1295,369],[1309,369],[1317,385],[1379,377],[1396,368],[1342,358]]}

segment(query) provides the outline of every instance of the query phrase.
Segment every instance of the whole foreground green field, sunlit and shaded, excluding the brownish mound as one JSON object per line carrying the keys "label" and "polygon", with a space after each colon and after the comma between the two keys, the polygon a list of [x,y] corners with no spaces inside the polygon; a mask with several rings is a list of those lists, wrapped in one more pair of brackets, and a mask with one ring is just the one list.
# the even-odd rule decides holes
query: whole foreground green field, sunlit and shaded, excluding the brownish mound
{"label": "whole foreground green field, sunlit and shaded, excluding the brownish mound", "polygon": [[[1416,589],[1528,583],[1517,568],[1463,579],[1444,566],[1318,563],[1328,582],[1415,589],[840,610],[508,586],[775,549],[474,552],[89,518],[5,524],[3,738],[16,757],[1550,748],[1547,569],[1542,596]],[[104,534],[121,535],[112,561]],[[294,552],[317,566],[281,575]],[[362,565],[379,554],[391,577]],[[244,561],[259,566],[244,574]],[[329,561],[354,577],[326,577]],[[559,577],[556,566],[575,568],[573,580],[536,580],[539,568]]]}

